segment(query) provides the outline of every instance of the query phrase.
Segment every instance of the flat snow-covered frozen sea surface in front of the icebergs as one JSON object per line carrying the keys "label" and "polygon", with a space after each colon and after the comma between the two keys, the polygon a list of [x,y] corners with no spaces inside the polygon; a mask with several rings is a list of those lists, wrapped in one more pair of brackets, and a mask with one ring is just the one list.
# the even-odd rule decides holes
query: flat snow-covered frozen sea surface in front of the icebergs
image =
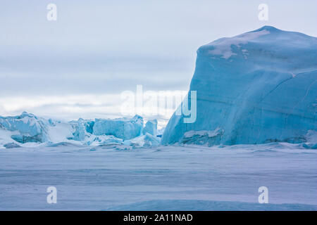
{"label": "flat snow-covered frozen sea surface in front of the icebergs", "polygon": [[289,143],[1,149],[0,210],[317,210],[316,162]]}

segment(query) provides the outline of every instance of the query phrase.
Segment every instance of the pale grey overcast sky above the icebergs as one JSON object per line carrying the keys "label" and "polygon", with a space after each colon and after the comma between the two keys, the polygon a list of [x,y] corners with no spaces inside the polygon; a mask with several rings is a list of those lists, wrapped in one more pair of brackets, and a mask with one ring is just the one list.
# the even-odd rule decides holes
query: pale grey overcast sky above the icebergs
{"label": "pale grey overcast sky above the icebergs", "polygon": [[[57,21],[46,19],[49,3],[57,6]],[[261,3],[268,21],[258,19]],[[188,90],[197,49],[215,39],[263,25],[317,36],[317,1],[0,4],[0,115],[120,117],[120,93],[137,84]]]}

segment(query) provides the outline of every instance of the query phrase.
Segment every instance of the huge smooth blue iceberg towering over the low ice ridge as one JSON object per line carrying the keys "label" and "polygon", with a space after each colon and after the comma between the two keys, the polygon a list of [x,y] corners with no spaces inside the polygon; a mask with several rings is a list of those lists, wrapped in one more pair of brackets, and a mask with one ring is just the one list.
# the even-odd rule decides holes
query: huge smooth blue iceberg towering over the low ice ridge
{"label": "huge smooth blue iceberg towering over the low ice ridge", "polygon": [[189,91],[197,120],[174,114],[163,144],[307,141],[317,130],[317,38],[266,26],[213,41],[197,51]]}

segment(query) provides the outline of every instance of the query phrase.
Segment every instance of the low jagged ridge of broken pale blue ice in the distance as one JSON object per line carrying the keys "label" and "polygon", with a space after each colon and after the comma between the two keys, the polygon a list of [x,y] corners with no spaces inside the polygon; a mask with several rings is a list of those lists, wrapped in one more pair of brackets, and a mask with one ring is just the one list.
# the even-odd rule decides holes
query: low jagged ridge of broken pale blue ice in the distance
{"label": "low jagged ridge of broken pale blue ice in the distance", "polygon": [[[131,139],[142,137],[147,145],[160,142],[151,134],[156,134],[156,120],[150,120],[143,127],[143,118],[72,120],[46,120],[31,113],[13,117],[0,117],[0,148],[36,146],[46,143],[71,143],[85,146],[98,146],[108,143],[130,145]],[[143,133],[144,129],[144,133]],[[128,142],[127,142],[128,141]],[[33,143],[33,144],[32,144]],[[143,145],[142,145],[143,146]]]}

